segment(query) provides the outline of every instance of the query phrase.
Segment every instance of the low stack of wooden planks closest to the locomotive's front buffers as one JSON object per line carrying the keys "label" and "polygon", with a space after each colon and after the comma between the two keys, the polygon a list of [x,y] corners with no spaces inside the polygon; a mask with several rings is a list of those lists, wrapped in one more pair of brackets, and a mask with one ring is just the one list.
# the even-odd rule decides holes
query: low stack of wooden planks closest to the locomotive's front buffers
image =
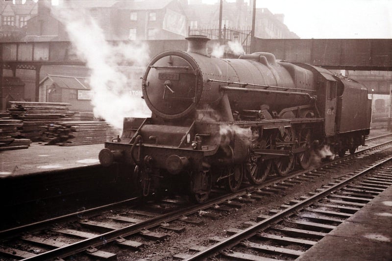
{"label": "low stack of wooden planks closest to the locomotive's front buffers", "polygon": [[[44,128],[44,127],[43,127]],[[62,121],[42,129],[46,145],[76,146],[111,141],[118,133],[104,121]]]}

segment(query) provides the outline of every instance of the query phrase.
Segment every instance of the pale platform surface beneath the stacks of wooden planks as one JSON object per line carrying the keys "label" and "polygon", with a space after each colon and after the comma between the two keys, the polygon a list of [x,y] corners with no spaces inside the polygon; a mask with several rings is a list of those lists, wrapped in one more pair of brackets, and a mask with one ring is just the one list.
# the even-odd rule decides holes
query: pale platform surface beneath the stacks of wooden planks
{"label": "pale platform surface beneath the stacks of wooden planks", "polygon": [[33,142],[27,149],[0,152],[0,179],[50,170],[98,165],[104,144],[54,146]]}

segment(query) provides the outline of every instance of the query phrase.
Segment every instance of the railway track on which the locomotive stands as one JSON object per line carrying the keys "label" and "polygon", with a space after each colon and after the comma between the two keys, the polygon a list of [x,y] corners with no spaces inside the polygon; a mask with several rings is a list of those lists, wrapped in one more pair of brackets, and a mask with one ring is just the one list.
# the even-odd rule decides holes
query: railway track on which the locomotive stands
{"label": "railway track on which the locomotive stands", "polygon": [[[0,242],[0,253],[4,256],[28,260],[49,260],[76,253],[85,253],[100,259],[114,258],[115,253],[97,248],[109,242],[116,242],[119,246],[133,251],[143,249],[143,245],[146,245],[144,240],[165,240],[171,233],[180,234],[189,224],[200,225],[205,218],[218,218],[219,214],[216,213],[230,212],[233,208],[240,209],[244,204],[281,193],[301,182],[319,177],[331,169],[352,165],[355,160],[386,149],[390,143],[385,142],[355,155],[338,158],[312,171],[298,171],[285,178],[273,178],[262,186],[247,187],[230,195],[221,195],[217,190],[216,196],[202,205],[187,206],[186,201],[166,199],[158,204],[153,202],[145,204],[140,208],[136,207],[140,199],[133,198],[102,208],[1,231],[0,238],[3,240]],[[116,209],[108,210],[115,206]],[[104,210],[106,212],[102,214]],[[204,215],[195,218],[197,213],[204,213]],[[58,225],[59,222],[65,224]],[[5,238],[8,239],[4,240]]]}

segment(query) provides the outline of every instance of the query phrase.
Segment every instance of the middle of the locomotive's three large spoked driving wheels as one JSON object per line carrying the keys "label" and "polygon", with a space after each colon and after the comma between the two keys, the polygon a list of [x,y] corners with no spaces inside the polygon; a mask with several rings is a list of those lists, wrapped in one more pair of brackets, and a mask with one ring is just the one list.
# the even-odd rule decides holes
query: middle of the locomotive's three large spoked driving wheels
{"label": "middle of the locomotive's three large spoked driving wheels", "polygon": [[[279,132],[275,139],[277,149],[284,150],[284,145],[279,142],[292,142],[294,140],[293,131],[289,128],[285,129],[283,136]],[[287,176],[294,166],[294,154],[290,156],[281,156],[273,161],[276,173],[280,176]]]}

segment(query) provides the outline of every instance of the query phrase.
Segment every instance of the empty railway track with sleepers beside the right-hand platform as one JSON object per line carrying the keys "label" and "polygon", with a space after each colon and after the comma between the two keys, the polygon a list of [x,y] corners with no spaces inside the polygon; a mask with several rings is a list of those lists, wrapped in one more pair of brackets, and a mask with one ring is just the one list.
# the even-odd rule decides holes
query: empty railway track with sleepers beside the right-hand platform
{"label": "empty railway track with sleepers beside the right-hand platform", "polygon": [[218,242],[211,246],[191,248],[198,251],[194,255],[179,257],[200,260],[219,254],[219,260],[294,260],[391,185],[392,157],[387,157],[282,205],[281,210],[271,210],[270,216],[259,216],[263,220],[249,228],[228,230],[232,236],[213,238]]}

